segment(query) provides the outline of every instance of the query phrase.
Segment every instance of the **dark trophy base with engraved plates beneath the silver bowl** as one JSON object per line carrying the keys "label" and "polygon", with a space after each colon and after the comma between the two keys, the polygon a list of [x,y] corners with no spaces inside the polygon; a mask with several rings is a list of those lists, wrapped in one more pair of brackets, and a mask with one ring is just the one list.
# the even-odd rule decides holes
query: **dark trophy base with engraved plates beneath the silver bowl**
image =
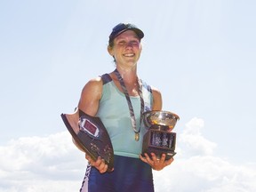
{"label": "dark trophy base with engraved plates beneath the silver bowl", "polygon": [[176,133],[175,132],[164,132],[156,129],[149,129],[144,135],[142,156],[145,153],[151,157],[151,153],[156,154],[156,158],[161,158],[162,154],[165,154],[165,160],[171,159],[172,156],[176,155]]}

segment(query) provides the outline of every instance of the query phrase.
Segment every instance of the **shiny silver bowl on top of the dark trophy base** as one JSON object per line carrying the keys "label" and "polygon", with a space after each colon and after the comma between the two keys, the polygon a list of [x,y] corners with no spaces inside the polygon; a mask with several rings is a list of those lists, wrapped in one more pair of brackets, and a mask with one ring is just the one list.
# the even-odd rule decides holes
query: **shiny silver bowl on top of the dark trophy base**
{"label": "shiny silver bowl on top of the dark trophy base", "polygon": [[153,110],[143,113],[143,122],[147,128],[165,126],[168,132],[172,132],[180,117],[170,111]]}

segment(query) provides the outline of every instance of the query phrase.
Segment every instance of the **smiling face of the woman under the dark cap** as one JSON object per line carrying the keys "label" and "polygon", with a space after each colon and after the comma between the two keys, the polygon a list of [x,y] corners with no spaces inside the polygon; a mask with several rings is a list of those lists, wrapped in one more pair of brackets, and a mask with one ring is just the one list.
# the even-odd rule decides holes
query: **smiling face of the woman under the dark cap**
{"label": "smiling face of the woman under the dark cap", "polygon": [[136,66],[141,50],[140,39],[132,30],[116,36],[113,47],[108,46],[108,52],[115,58],[116,65],[126,67]]}

